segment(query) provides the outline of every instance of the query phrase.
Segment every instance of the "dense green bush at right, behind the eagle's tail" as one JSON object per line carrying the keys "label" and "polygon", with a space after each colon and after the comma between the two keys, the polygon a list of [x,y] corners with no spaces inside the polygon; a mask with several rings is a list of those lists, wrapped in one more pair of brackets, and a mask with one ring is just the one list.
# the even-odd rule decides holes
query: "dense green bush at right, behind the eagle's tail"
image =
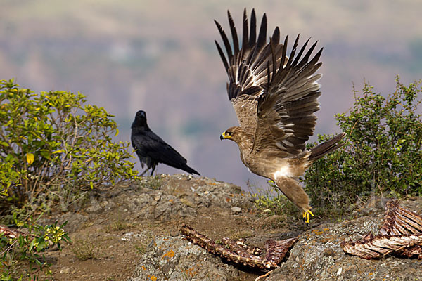
{"label": "dense green bush at right, behind the eagle's tail", "polygon": [[[335,116],[347,133],[345,145],[303,178],[314,207],[338,214],[373,195],[422,195],[421,91],[421,81],[404,86],[398,77],[387,98],[369,84],[361,96],[354,91],[352,109]],[[319,143],[327,138],[319,136]]]}

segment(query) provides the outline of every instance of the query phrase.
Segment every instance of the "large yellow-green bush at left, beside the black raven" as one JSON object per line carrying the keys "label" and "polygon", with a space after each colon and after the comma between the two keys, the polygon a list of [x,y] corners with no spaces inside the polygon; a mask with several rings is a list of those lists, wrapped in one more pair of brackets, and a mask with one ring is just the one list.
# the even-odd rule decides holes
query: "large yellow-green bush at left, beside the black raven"
{"label": "large yellow-green bush at left, beside the black raven", "polygon": [[[0,207],[71,202],[79,192],[136,178],[117,124],[81,93],[32,93],[0,80]],[[47,198],[46,197],[51,197]],[[46,203],[48,204],[48,203]]]}

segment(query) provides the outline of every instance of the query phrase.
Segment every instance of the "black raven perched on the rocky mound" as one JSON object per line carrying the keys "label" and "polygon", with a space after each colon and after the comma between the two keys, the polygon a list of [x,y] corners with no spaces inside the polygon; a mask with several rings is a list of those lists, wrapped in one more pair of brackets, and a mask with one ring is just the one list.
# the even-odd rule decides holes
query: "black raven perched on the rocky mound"
{"label": "black raven perched on the rocky mound", "polygon": [[131,140],[141,166],[143,167],[143,164],[146,164],[146,170],[143,171],[141,176],[151,168],[152,176],[158,163],[182,169],[189,174],[199,175],[197,171],[186,165],[186,159],[179,152],[149,129],[148,124],[146,124],[146,114],[143,110],[136,112],[135,120],[132,123]]}

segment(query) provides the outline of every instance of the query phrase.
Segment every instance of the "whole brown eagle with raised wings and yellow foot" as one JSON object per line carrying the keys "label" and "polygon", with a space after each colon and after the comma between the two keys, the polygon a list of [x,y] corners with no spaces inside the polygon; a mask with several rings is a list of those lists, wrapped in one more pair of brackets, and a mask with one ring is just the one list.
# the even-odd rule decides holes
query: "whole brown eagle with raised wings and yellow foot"
{"label": "whole brown eagle with raised wings and yellow foot", "polygon": [[312,214],[309,197],[299,185],[312,162],[341,146],[345,133],[325,143],[305,150],[305,143],[314,133],[319,110],[317,98],[321,95],[316,81],[321,74],[319,58],[322,48],[312,55],[316,43],[307,51],[309,39],[298,48],[296,37],[287,56],[288,37],[280,42],[276,27],[267,42],[267,16],[264,14],[257,32],[255,11],[252,10],[250,28],[246,10],[243,13],[242,41],[229,11],[232,44],[217,21],[225,53],[215,41],[224,68],[229,76],[227,93],[236,111],[240,126],[222,133],[238,144],[243,164],[253,173],[269,178],[304,211],[309,221]]}

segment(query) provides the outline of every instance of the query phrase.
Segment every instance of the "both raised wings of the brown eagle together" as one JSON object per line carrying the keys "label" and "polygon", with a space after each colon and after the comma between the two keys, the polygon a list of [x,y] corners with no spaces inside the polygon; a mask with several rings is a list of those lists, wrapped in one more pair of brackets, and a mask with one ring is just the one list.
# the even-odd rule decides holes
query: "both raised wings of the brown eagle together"
{"label": "both raised wings of the brown eagle together", "polygon": [[254,10],[250,30],[246,10],[243,12],[240,48],[234,21],[229,11],[227,13],[233,44],[217,21],[226,55],[217,41],[215,44],[229,76],[227,92],[239,124],[255,136],[254,153],[265,150],[268,155],[277,157],[297,155],[305,148],[316,124],[314,112],[319,110],[317,98],[321,95],[316,81],[321,74],[315,72],[321,66],[322,48],[311,58],[316,43],[305,51],[308,39],[298,50],[298,36],[289,59],[286,55],[288,37],[281,44],[279,27],[276,27],[267,43],[267,16],[263,15],[257,34]]}

